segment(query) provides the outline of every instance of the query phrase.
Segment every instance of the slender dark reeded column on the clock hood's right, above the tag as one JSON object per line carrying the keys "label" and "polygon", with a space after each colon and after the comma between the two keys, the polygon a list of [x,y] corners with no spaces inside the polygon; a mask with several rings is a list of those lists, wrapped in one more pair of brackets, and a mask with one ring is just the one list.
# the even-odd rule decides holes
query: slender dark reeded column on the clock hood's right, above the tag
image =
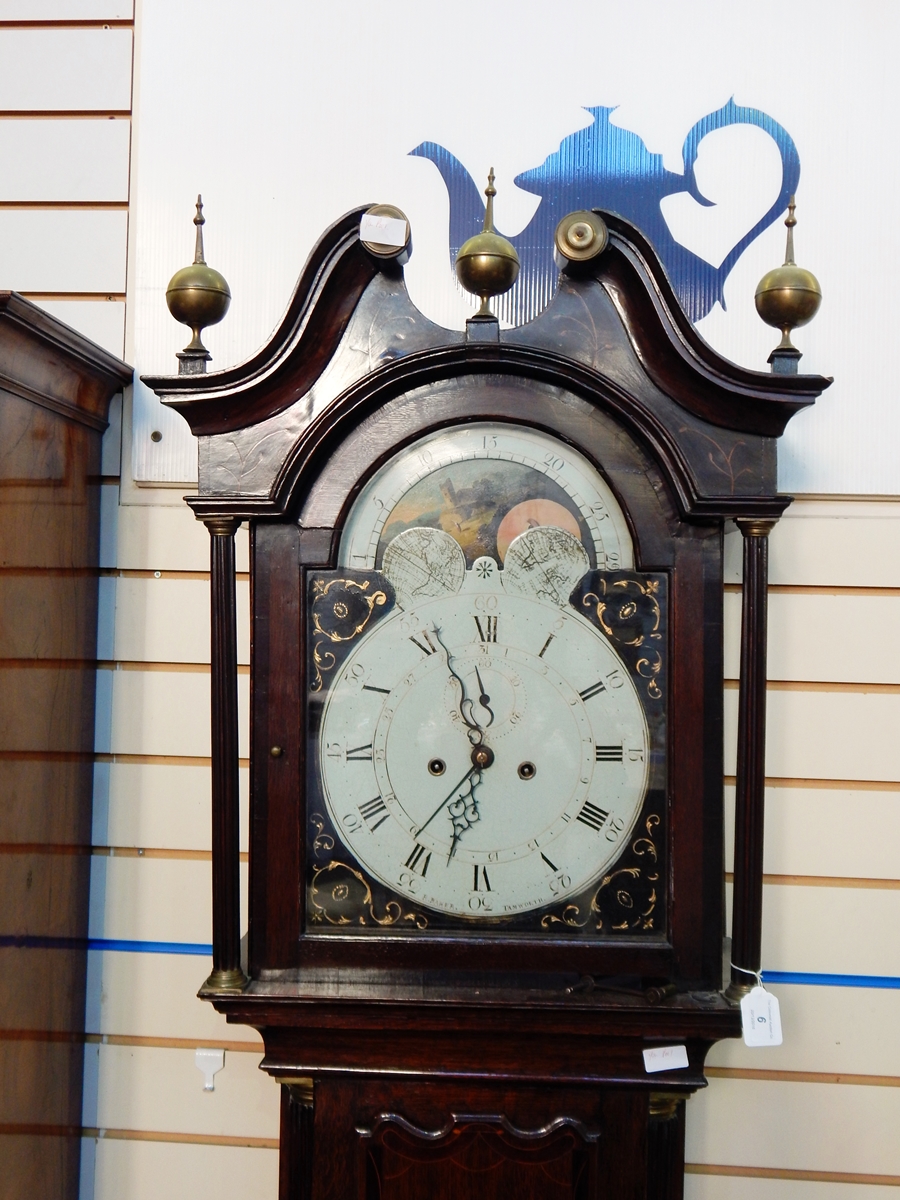
{"label": "slender dark reeded column on the clock hood's right, above the tag", "polygon": [[[762,942],[762,850],[766,816],[766,638],[769,532],[774,521],[738,520],[744,539],[740,614],[738,764],[734,796],[734,895],[731,983],[739,1000],[752,988],[746,972],[760,971]],[[743,970],[736,970],[743,967]]]}

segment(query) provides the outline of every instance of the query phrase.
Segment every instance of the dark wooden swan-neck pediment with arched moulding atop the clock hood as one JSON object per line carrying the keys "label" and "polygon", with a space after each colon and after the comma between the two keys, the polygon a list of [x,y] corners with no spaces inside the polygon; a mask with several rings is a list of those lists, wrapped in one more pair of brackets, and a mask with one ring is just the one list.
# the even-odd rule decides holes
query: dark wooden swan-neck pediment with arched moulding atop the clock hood
{"label": "dark wooden swan-neck pediment with arched moulding atop the clock hood", "polygon": [[[396,401],[420,389],[449,397],[454,380],[478,376],[490,376],[492,389],[518,380],[518,388],[556,391],[559,408],[574,412],[578,403],[566,401],[568,392],[607,414],[655,461],[683,518],[784,510],[775,440],[830,380],[746,371],[721,359],[626,221],[604,214],[607,251],[588,270],[562,275],[535,320],[481,341],[415,308],[402,270],[374,260],[359,241],[362,211],[323,235],[282,324],[252,359],[209,376],[145,377],[199,438],[199,494],[188,502],[199,517],[283,520],[308,504],[306,481],[378,409],[394,403],[398,412]],[[432,426],[451,420],[431,412],[428,401]],[[394,448],[409,433],[396,426]]]}

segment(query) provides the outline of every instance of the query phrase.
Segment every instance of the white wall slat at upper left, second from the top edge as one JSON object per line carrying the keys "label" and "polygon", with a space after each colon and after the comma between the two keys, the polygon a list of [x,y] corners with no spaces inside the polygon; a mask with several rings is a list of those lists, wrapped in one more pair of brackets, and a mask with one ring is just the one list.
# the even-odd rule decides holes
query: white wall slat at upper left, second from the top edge
{"label": "white wall slat at upper left, second from the top edge", "polygon": [[0,30],[0,109],[128,109],[131,47],[130,29]]}

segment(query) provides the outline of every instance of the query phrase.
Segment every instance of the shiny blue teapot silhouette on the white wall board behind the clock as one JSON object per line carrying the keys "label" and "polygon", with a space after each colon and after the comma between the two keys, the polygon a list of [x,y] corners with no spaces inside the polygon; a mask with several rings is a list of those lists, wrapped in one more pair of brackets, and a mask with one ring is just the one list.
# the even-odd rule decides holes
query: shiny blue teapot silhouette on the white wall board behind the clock
{"label": "shiny blue teapot silhouette on the white wall board behind the clock", "polygon": [[[548,304],[558,275],[553,263],[553,232],[560,218],[575,209],[607,209],[636,224],[655,246],[692,322],[706,317],[716,300],[725,307],[722,288],[730,271],[750,242],[784,212],[788,197],[797,191],[800,160],[791,136],[760,109],[743,108],[730,100],[701,118],[684,139],[684,173],[679,175],[662,164],[661,155],[650,154],[636,133],[610,121],[613,108],[588,108],[587,112],[594,119],[590,125],[565,138],[540,167],[516,175],[516,185],[540,196],[541,203],[522,233],[509,238],[518,252],[522,274],[511,292],[494,301],[499,316],[520,325]],[[707,133],[730,125],[755,125],[775,142],[781,154],[781,190],[768,211],[732,246],[719,266],[713,266],[674,240],[660,200],[686,192],[698,204],[712,205],[713,202],[700,192],[694,164]],[[481,229],[485,206],[480,188],[444,146],[422,142],[410,154],[431,160],[446,185],[452,269],[460,246]]]}

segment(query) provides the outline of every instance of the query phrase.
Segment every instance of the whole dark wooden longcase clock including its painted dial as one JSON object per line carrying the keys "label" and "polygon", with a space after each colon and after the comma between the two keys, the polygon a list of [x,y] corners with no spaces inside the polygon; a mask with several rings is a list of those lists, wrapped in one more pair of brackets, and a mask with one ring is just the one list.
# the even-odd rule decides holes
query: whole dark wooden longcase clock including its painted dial
{"label": "whole dark wooden longcase clock including its painted dial", "polygon": [[[264,1038],[282,1200],[668,1200],[685,1100],[739,1032],[722,994],[724,530],[740,522],[764,564],[790,503],[776,438],[827,380],[718,358],[612,215],[536,320],[464,332],[418,312],[361,215],[324,235],[254,359],[148,380],[199,437],[190,503],[212,544],[202,995]],[[761,612],[757,595],[757,664]],[[750,672],[752,845],[761,704]],[[752,845],[736,863],[744,968]],[[648,1073],[654,1048],[682,1064]]]}

